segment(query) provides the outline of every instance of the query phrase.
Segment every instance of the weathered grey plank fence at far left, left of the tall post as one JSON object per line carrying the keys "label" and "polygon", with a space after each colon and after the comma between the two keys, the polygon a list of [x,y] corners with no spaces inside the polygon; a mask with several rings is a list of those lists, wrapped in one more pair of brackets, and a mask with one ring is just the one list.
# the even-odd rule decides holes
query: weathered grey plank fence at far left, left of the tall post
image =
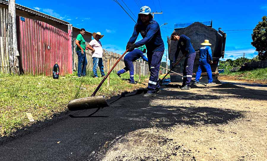
{"label": "weathered grey plank fence at far left, left of the tall post", "polygon": [[7,9],[0,8],[0,72],[9,73],[9,41],[7,36]]}

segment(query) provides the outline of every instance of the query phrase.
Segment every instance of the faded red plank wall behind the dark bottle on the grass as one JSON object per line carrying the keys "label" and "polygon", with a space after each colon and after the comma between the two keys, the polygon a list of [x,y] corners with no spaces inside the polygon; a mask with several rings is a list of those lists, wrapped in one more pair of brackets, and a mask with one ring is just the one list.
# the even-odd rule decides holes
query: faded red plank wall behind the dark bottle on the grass
{"label": "faded red plank wall behind the dark bottle on the grass", "polygon": [[20,66],[23,72],[51,76],[57,62],[60,75],[72,73],[69,34],[45,22],[23,18],[18,17],[17,24]]}

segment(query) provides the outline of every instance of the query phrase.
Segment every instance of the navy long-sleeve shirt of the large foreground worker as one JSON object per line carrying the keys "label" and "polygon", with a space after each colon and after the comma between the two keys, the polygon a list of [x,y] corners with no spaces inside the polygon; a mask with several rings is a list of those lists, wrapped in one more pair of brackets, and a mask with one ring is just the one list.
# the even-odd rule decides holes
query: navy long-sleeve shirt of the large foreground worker
{"label": "navy long-sleeve shirt of the large foreground worker", "polygon": [[[139,33],[141,33],[143,39],[135,43]],[[142,21],[138,19],[129,42],[135,43],[136,48],[146,45],[148,54],[155,51],[164,51],[164,43],[161,38],[160,27],[158,22],[153,19],[150,19],[148,25],[143,25]]]}

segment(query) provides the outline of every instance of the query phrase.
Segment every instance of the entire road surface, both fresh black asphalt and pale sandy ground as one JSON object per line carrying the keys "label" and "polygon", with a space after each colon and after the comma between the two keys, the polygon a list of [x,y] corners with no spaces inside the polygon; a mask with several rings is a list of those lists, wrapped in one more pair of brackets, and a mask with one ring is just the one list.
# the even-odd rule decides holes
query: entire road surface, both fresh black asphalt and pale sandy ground
{"label": "entire road surface, both fresh black asphalt and pale sandy ground", "polygon": [[96,113],[62,113],[1,138],[0,160],[266,161],[267,87],[236,83],[138,90]]}

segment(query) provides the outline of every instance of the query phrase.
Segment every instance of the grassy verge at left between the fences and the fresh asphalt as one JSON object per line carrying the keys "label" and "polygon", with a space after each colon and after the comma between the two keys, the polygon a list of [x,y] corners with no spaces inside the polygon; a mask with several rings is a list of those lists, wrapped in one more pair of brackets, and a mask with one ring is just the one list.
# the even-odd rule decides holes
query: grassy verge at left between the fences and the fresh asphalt
{"label": "grassy verge at left between the fences and the fresh asphalt", "polygon": [[[90,96],[102,78],[76,78],[75,74],[53,79],[45,76],[12,76],[0,74],[0,136],[10,136],[16,129],[31,125],[26,113],[31,113],[35,121],[43,121],[54,114],[67,110],[69,100]],[[100,73],[98,75],[101,75]],[[130,84],[126,80],[129,74],[119,78],[116,73],[110,74],[110,86],[107,80],[96,95],[105,95],[106,98],[132,91],[143,84]],[[139,76],[134,76],[139,80]],[[142,76],[141,82],[147,77]]]}

